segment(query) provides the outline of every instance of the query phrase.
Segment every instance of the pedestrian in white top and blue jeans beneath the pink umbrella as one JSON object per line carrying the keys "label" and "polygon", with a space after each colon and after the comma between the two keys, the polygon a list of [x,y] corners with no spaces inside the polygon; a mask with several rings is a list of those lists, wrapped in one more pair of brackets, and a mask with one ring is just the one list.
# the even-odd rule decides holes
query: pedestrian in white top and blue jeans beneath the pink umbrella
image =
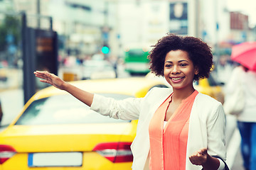
{"label": "pedestrian in white top and blue jeans beneath the pink umbrella", "polygon": [[[244,103],[242,111],[236,115],[241,135],[241,153],[246,170],[256,170],[256,72],[242,65],[235,67],[225,86],[225,96],[235,94],[241,86],[242,97],[238,102]],[[234,98],[230,98],[230,100]],[[225,104],[225,103],[224,103]],[[236,103],[238,104],[238,103]],[[225,109],[226,111],[227,109]]]}

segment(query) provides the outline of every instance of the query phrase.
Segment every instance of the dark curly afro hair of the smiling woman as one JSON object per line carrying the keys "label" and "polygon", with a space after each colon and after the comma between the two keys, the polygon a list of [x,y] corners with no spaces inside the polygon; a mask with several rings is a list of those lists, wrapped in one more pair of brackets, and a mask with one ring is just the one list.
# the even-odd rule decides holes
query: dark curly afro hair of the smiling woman
{"label": "dark curly afro hair of the smiling woman", "polygon": [[191,36],[179,36],[167,34],[149,52],[151,72],[156,76],[164,76],[164,60],[166,54],[171,50],[183,50],[188,52],[188,57],[193,62],[194,67],[198,68],[193,80],[208,78],[210,69],[213,67],[213,54],[210,47],[199,38]]}

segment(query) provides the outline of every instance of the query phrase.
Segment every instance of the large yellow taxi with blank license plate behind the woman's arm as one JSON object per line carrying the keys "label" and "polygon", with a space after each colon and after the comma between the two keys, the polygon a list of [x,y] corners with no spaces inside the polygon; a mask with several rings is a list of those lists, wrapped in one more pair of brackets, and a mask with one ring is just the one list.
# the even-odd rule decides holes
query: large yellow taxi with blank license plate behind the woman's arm
{"label": "large yellow taxi with blank license plate behind the woman's arm", "polygon": [[[92,93],[144,97],[161,81],[145,78],[73,81]],[[131,169],[137,120],[115,120],[91,111],[53,86],[38,91],[0,133],[0,169]]]}

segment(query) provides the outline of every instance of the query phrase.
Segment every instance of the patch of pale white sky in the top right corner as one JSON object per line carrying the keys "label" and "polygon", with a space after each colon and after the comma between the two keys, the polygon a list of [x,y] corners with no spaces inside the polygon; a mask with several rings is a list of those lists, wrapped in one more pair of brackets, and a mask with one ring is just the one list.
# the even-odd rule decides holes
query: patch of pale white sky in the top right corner
{"label": "patch of pale white sky in the top right corner", "polygon": [[227,0],[228,11],[240,11],[249,16],[249,25],[256,25],[256,1],[255,0]]}

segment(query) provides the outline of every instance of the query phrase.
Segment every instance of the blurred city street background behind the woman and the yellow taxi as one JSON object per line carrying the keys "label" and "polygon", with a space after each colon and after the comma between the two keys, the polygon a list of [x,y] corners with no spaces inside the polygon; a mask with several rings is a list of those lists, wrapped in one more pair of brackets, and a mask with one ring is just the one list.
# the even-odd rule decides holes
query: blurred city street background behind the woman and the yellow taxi
{"label": "blurred city street background behind the woman and the yellow taxi", "polygon": [[[210,45],[212,75],[225,94],[238,65],[230,60],[233,45],[256,40],[255,6],[255,0],[0,0],[0,130],[47,86],[34,77],[37,69],[67,81],[142,77],[149,72],[151,45],[166,33]],[[95,63],[102,64],[100,74],[92,74]],[[231,115],[226,139],[227,164],[243,170]]]}

